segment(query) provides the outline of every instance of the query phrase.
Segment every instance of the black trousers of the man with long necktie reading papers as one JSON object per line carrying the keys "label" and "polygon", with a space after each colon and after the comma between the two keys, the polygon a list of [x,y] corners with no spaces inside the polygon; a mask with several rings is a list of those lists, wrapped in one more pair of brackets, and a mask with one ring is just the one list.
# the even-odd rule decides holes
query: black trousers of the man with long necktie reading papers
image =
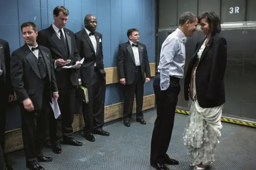
{"label": "black trousers of the man with long necktie reading papers", "polygon": [[[76,102],[76,86],[71,85],[71,82],[65,88],[59,89],[58,104],[61,112],[61,132],[63,140],[73,139],[73,119],[75,114]],[[50,123],[50,138],[52,144],[60,144],[62,138],[57,136],[57,119],[55,119],[51,109],[49,116]]]}

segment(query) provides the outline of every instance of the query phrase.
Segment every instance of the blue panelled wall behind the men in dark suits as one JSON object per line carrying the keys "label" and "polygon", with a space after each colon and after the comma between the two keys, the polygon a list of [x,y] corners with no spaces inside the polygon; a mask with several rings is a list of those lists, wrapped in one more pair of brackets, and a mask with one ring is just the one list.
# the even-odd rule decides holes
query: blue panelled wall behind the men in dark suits
{"label": "blue panelled wall behind the men in dark suits", "polygon": [[[9,42],[11,52],[24,44],[20,25],[33,21],[38,30],[53,23],[53,9],[66,6],[66,28],[74,33],[84,28],[84,17],[97,17],[102,38],[105,68],[116,67],[118,45],[128,41],[127,29],[137,28],[140,42],[146,44],[149,62],[155,62],[155,0],[9,0],[0,1],[0,38]],[[153,79],[145,83],[144,95],[153,94]],[[123,86],[107,85],[105,106],[123,101]],[[8,110],[6,129],[20,127],[19,107]]]}

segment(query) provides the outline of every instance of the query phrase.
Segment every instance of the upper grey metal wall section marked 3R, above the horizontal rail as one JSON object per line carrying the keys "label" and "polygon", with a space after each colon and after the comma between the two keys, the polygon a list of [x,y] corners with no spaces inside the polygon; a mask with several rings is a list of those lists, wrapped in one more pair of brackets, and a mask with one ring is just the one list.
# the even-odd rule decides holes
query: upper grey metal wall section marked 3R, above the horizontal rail
{"label": "upper grey metal wall section marked 3R, above the horizontal rail", "polygon": [[159,26],[178,26],[183,12],[191,11],[199,15],[203,11],[214,11],[223,22],[255,21],[255,0],[158,0]]}

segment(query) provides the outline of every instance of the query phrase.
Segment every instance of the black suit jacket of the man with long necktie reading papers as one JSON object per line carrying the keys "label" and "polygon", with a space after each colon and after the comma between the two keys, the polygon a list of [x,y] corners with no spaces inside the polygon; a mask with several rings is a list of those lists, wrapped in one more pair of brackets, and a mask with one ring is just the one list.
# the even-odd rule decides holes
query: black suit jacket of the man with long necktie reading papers
{"label": "black suit jacket of the man with long necktie reading papers", "polygon": [[[38,32],[37,43],[39,45],[45,46],[50,49],[52,54],[53,64],[57,59],[71,60],[70,64],[66,66],[74,65],[76,61],[80,61],[81,58],[77,52],[76,42],[74,33],[66,28],[63,28],[65,31],[65,36],[67,39],[69,56],[65,58],[65,53],[60,48],[60,39],[55,33],[52,25],[46,29],[43,29]],[[71,80],[73,86],[78,85],[78,69],[62,69],[62,66],[57,66],[55,70],[55,76],[59,88],[66,87],[67,82]]]}

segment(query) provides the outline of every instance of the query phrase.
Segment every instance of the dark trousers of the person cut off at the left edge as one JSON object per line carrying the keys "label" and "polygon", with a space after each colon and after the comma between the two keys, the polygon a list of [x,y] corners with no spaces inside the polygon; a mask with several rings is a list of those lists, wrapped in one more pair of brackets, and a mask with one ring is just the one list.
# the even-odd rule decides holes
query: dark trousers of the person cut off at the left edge
{"label": "dark trousers of the person cut off at the left edge", "polygon": [[[0,76],[0,145],[2,150],[4,151],[4,144],[5,144],[5,124],[6,124],[6,109],[8,102],[8,94],[6,93],[6,86],[4,83],[3,76]],[[2,154],[2,153],[1,153]],[[6,156],[4,154],[4,156]],[[5,161],[7,161],[5,157]]]}

